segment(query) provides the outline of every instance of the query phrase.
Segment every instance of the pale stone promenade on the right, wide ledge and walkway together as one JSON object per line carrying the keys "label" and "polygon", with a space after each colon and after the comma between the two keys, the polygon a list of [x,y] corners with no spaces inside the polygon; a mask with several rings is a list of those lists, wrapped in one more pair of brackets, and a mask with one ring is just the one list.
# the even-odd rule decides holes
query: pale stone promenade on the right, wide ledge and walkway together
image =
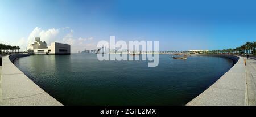
{"label": "pale stone promenade on the right, wide ledge and walkway together", "polygon": [[254,81],[256,79],[250,76],[256,75],[255,69],[252,68],[252,66],[255,68],[256,63],[255,60],[254,63],[251,63],[248,59],[245,66],[244,59],[239,57],[237,63],[228,72],[207,90],[188,102],[187,106],[255,105],[256,88]]}

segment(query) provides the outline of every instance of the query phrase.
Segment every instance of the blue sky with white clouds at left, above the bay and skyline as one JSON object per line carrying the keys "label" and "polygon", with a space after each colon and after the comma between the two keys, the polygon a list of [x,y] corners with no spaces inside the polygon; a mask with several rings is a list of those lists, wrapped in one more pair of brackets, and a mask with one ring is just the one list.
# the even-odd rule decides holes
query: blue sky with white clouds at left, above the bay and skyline
{"label": "blue sky with white clouds at left, above the bay and skyline", "polygon": [[1,0],[0,41],[41,36],[93,49],[100,40],[158,40],[159,50],[227,49],[256,41],[253,1]]}

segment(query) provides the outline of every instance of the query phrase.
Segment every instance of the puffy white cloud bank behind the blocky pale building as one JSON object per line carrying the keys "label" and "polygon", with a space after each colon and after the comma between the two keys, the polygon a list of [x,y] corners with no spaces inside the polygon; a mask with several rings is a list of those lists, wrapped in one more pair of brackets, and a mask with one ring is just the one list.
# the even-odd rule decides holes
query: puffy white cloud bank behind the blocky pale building
{"label": "puffy white cloud bank behind the blocky pale building", "polygon": [[[68,32],[67,32],[68,31]],[[35,27],[33,31],[26,37],[20,38],[18,41],[18,45],[20,46],[20,50],[25,50],[28,44],[31,44],[35,41],[35,37],[40,37],[41,41],[46,41],[47,46],[51,44],[51,42],[61,42],[64,44],[71,45],[71,52],[76,53],[77,51],[86,49],[96,49],[96,43],[93,42],[93,37],[88,38],[75,38],[73,36],[74,30],[69,27],[65,28],[51,28],[51,29],[41,29],[39,27]]]}

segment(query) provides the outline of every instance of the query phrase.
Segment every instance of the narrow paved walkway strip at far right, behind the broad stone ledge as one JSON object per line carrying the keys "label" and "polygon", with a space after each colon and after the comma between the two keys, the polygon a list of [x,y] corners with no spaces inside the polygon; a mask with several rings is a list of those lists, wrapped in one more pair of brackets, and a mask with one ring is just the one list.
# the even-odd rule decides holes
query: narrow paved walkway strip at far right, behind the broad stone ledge
{"label": "narrow paved walkway strip at far right, behind the broad stone ledge", "polygon": [[247,81],[247,105],[256,105],[256,60],[246,60],[246,81]]}

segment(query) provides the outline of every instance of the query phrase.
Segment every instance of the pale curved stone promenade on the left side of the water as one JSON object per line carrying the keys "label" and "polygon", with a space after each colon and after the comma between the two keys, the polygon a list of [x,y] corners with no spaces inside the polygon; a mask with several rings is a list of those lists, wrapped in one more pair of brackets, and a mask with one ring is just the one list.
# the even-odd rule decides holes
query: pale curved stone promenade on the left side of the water
{"label": "pale curved stone promenade on the left side of the water", "polygon": [[[10,59],[23,56],[11,55]],[[62,105],[24,75],[10,59],[9,56],[2,58],[0,105]]]}

